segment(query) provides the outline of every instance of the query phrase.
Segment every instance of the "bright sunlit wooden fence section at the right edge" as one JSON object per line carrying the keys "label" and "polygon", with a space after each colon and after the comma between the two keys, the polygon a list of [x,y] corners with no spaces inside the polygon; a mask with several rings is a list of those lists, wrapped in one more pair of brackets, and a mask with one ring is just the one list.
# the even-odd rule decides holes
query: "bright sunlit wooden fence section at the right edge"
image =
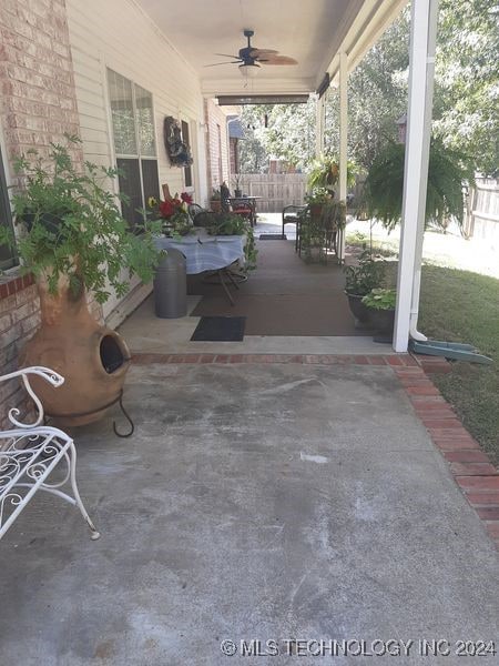
{"label": "bright sunlit wooden fence section at the right edge", "polygon": [[477,178],[467,201],[465,233],[499,246],[499,181]]}

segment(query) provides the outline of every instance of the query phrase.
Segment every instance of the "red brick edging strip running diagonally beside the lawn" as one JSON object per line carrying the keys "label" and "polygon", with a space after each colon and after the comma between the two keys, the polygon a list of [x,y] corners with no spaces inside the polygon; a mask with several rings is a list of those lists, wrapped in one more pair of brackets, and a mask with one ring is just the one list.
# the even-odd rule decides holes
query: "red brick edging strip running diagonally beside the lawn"
{"label": "red brick edging strip running diagonally beside the lawn", "polygon": [[499,473],[420,367],[394,367],[417,415],[499,549]]}

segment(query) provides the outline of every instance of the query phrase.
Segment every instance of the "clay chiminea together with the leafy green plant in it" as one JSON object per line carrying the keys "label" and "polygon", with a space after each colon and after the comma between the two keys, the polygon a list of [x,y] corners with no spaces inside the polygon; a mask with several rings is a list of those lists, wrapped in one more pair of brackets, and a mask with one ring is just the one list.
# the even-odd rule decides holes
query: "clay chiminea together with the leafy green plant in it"
{"label": "clay chiminea together with the leafy green plant in it", "polygon": [[144,222],[141,233],[132,233],[115,196],[103,186],[116,170],[73,164],[70,149],[80,140],[67,139],[65,147],[51,145],[48,160],[35,151],[16,160],[23,183],[12,198],[20,229],[14,236],[0,228],[0,243],[16,249],[21,270],[34,275],[40,294],[41,326],[21,351],[20,363],[48,366],[64,377],[58,391],[44,382],[34,386],[35,380],[33,389],[48,415],[80,425],[120,398],[130,364],[126,344],[94,320],[88,296],[99,303],[111,290],[123,296],[130,273],[152,281],[157,228]]}

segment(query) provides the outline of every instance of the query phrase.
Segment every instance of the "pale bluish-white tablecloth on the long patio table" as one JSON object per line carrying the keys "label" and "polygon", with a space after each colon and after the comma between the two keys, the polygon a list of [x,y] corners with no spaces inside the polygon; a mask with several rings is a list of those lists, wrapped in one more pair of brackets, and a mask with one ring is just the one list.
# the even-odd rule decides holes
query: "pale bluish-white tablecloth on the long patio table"
{"label": "pale bluish-white tablecloth on the long patio table", "polygon": [[155,245],[162,250],[179,250],[185,256],[187,274],[225,269],[235,261],[244,261],[245,235],[211,236],[204,230],[182,240],[159,236]]}

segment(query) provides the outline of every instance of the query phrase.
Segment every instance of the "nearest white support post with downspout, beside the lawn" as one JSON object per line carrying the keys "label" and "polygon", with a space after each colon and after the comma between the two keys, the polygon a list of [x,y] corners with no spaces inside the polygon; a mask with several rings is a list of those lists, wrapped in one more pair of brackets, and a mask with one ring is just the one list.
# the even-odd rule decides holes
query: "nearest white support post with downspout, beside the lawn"
{"label": "nearest white support post with downspout, beside the lawn", "polygon": [[397,281],[394,349],[406,352],[417,332],[431,135],[438,0],[413,0],[409,48],[409,101],[404,169],[403,222]]}

